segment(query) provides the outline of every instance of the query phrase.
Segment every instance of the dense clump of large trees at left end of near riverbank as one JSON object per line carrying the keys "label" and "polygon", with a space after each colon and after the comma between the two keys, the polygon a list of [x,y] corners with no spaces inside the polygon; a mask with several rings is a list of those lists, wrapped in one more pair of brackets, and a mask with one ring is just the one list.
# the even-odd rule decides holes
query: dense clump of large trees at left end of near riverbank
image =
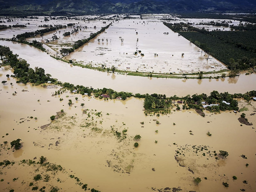
{"label": "dense clump of large trees at left end of near riverbank", "polygon": [[55,79],[51,78],[50,74],[45,74],[43,68],[35,67],[35,70],[29,68],[29,64],[24,59],[18,59],[18,55],[14,55],[10,51],[9,47],[0,45],[0,55],[5,56],[3,64],[10,65],[14,71],[14,77],[18,78],[17,83],[34,83],[36,85],[45,83],[47,81],[55,82]]}

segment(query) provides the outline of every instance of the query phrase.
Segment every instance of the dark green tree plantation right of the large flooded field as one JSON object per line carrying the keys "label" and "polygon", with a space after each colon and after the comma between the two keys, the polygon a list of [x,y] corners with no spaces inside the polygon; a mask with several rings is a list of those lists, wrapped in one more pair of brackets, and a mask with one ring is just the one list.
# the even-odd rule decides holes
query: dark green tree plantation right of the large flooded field
{"label": "dark green tree plantation right of the large flooded field", "polygon": [[[246,70],[256,63],[256,30],[250,31],[207,31],[185,23],[169,24],[167,27],[209,52],[231,70]],[[256,29],[256,28],[255,28]]]}

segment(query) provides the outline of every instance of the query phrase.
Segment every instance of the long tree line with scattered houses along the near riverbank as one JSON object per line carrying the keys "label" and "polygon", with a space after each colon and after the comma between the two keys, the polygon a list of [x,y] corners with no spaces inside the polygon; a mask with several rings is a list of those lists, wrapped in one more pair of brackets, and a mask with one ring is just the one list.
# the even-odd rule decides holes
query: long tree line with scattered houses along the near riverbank
{"label": "long tree line with scattered houses along the near riverbank", "polygon": [[[1,46],[0,45],[0,56],[1,60],[3,60],[3,65],[10,65],[14,69],[14,77],[18,79],[17,83],[34,83],[36,85],[46,83],[47,81],[51,81],[52,83],[56,83],[62,86],[65,89],[70,90],[71,92],[76,89],[79,94],[87,93],[88,96],[91,96],[93,93],[95,97],[99,97],[102,94],[109,95],[110,99],[115,99],[116,97],[121,97],[122,100],[125,100],[129,97],[136,97],[136,98],[144,98],[144,108],[145,109],[164,109],[170,106],[172,100],[184,100],[184,104],[188,104],[187,108],[192,109],[201,109],[201,101],[205,101],[208,104],[217,104],[217,110],[238,110],[238,102],[234,100],[234,98],[243,98],[247,101],[251,100],[252,97],[256,96],[256,90],[242,93],[234,93],[230,94],[228,92],[219,93],[218,91],[212,91],[209,96],[207,94],[194,94],[192,96],[187,95],[185,97],[178,97],[174,95],[172,97],[166,97],[165,94],[140,94],[130,92],[117,92],[113,89],[103,88],[103,89],[93,89],[92,87],[84,87],[84,86],[74,86],[74,84],[70,84],[68,82],[62,83],[57,81],[57,79],[51,78],[50,74],[45,74],[45,70],[43,68],[35,67],[35,70],[29,67],[29,64],[24,59],[18,59],[17,54],[13,54],[9,47]],[[222,103],[222,101],[229,102],[230,105]]]}

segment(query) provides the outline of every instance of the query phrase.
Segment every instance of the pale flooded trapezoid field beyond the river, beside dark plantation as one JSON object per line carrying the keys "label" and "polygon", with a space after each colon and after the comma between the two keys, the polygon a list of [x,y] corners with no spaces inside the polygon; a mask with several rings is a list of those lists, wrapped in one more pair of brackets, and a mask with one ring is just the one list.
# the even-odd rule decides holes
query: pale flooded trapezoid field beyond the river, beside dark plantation
{"label": "pale flooded trapezoid field beyond the river, beside dark plantation", "polygon": [[65,58],[106,68],[114,65],[127,71],[191,73],[226,69],[211,56],[207,61],[207,54],[166,27],[162,20],[119,20],[105,32]]}

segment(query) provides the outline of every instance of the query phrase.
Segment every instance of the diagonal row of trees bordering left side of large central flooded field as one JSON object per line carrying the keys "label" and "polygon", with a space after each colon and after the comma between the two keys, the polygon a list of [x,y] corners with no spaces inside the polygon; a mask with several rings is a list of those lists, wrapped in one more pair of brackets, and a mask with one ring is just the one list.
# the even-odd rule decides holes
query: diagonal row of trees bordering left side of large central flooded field
{"label": "diagonal row of trees bordering left side of large central flooded field", "polygon": [[[112,24],[112,23],[111,23]],[[106,27],[102,27],[101,30],[97,31],[97,33],[91,33],[90,37],[88,37],[87,39],[82,39],[82,40],[78,40],[74,43],[74,45],[72,46],[72,48],[66,49],[63,48],[60,50],[60,53],[63,55],[67,55],[71,52],[73,52],[75,49],[79,48],[80,46],[82,46],[83,44],[87,43],[89,40],[91,40],[92,38],[96,37],[97,35],[99,35],[100,33],[102,33],[103,31],[105,31],[107,28],[109,28],[110,24],[107,25]],[[68,33],[68,32],[66,32]],[[64,34],[63,34],[64,35]],[[69,32],[70,35],[70,32]],[[66,36],[66,35],[65,35]]]}

